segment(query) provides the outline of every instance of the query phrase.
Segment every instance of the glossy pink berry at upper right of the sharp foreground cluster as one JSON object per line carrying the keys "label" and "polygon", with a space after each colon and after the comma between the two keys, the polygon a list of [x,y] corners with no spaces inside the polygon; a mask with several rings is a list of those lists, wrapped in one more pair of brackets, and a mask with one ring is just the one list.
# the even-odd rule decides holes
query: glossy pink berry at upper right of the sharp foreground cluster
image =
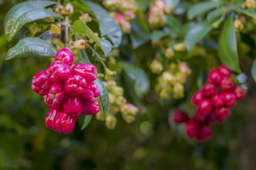
{"label": "glossy pink berry at upper right of the sharp foreground cluster", "polygon": [[73,67],[73,74],[82,76],[87,82],[93,82],[96,80],[97,68],[93,64],[76,64]]}

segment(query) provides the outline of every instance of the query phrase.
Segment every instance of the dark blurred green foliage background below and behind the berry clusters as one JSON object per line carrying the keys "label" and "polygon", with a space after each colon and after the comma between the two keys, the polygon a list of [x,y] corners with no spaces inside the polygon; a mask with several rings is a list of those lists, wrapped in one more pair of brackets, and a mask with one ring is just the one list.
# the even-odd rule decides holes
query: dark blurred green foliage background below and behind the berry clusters
{"label": "dark blurred green foliage background below and behind the berry clusters", "polygon": [[[197,1],[184,1],[184,4],[189,5]],[[145,111],[139,114],[132,124],[118,119],[117,127],[108,130],[103,122],[93,117],[88,127],[81,131],[83,119],[80,117],[71,134],[59,134],[45,127],[44,118],[48,107],[41,97],[31,90],[31,78],[40,69],[46,68],[51,62],[50,59],[4,60],[8,49],[17,43],[19,37],[23,37],[23,33],[19,33],[17,39],[7,43],[3,30],[5,14],[18,2],[20,0],[0,0],[0,170],[256,168],[256,90],[250,76],[250,57],[243,58],[240,64],[243,72],[248,75],[249,89],[246,99],[238,102],[227,121],[214,125],[214,136],[206,142],[197,143],[186,139],[184,134],[180,133],[182,131],[179,129],[182,127],[177,127],[171,122],[169,113],[184,100],[171,104],[170,101],[159,102],[156,100],[154,87],[151,87],[142,99]],[[145,2],[138,0],[141,4]],[[255,42],[248,38],[247,34],[242,34],[242,38],[249,39],[247,44],[255,48]],[[145,43],[137,49],[131,49],[130,45],[121,46],[120,59],[136,63],[146,70],[150,82],[154,83],[156,76],[150,73],[148,67],[148,59],[154,55],[151,44]],[[248,55],[254,58],[255,54],[256,51],[252,50]],[[212,63],[215,61],[211,60],[210,55],[207,64],[202,64],[199,60],[189,62],[196,64],[186,86],[191,86],[190,82],[197,66],[216,65]],[[207,71],[209,69],[203,69],[205,75]],[[121,78],[119,81],[120,84],[123,83]],[[126,88],[128,87],[124,85],[125,93],[129,93]],[[182,107],[190,112],[191,106],[186,104]]]}

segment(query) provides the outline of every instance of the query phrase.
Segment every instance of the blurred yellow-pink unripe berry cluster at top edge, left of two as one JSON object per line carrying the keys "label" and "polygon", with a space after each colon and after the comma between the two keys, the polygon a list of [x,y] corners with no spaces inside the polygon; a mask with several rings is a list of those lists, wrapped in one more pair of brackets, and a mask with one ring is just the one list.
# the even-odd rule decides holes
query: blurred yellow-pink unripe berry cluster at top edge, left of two
{"label": "blurred yellow-pink unripe berry cluster at top edge, left of two", "polygon": [[131,32],[131,21],[135,18],[137,6],[132,0],[104,0],[103,5],[109,10],[110,16],[115,18],[124,34]]}

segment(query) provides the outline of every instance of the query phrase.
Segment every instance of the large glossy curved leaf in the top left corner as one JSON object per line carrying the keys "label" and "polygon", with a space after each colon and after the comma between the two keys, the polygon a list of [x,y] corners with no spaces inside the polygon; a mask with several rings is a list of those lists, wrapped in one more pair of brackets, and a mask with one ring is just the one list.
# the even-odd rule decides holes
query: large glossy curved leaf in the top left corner
{"label": "large glossy curved leaf in the top left corner", "polygon": [[12,7],[4,18],[4,29],[7,40],[10,41],[25,24],[47,17],[62,17],[58,14],[41,9],[56,4],[54,1],[35,0],[19,3]]}

